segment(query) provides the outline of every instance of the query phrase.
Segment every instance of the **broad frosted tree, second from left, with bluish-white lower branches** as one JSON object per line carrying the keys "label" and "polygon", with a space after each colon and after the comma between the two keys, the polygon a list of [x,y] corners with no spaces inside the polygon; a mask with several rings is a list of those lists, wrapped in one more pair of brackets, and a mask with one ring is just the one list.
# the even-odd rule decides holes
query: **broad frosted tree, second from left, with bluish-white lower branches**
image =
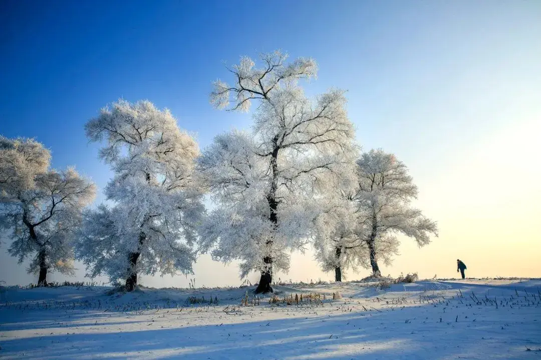
{"label": "broad frosted tree, second from left, with bluish-white lower branches", "polygon": [[115,173],[105,187],[112,205],[84,214],[76,250],[88,275],[125,280],[131,291],[137,274],[192,273],[204,213],[194,138],[150,101],[120,100],[89,120],[85,131],[91,141],[105,140],[100,157]]}

